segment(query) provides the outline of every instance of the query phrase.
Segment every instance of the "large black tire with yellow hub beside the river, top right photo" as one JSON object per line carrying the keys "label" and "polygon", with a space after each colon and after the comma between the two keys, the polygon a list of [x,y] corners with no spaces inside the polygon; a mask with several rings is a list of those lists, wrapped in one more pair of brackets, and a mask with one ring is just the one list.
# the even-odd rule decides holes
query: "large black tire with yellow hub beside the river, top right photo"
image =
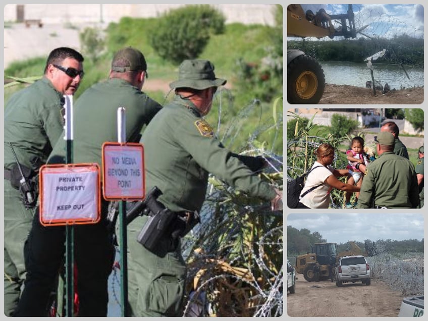
{"label": "large black tire with yellow hub beside the river, top right photo", "polygon": [[287,66],[287,101],[318,103],[324,93],[323,68],[312,57],[301,55]]}

